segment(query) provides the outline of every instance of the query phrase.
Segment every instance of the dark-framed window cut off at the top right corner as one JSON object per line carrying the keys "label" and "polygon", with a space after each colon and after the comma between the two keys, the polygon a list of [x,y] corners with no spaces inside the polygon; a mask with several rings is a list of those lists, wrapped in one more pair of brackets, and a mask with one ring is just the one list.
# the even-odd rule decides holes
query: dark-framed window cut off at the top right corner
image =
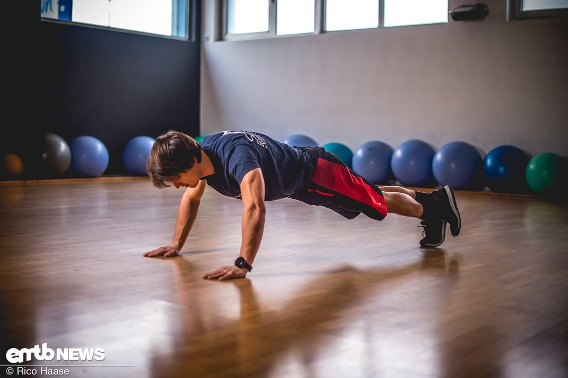
{"label": "dark-framed window cut off at the top right corner", "polygon": [[507,0],[507,20],[568,17],[568,0]]}

